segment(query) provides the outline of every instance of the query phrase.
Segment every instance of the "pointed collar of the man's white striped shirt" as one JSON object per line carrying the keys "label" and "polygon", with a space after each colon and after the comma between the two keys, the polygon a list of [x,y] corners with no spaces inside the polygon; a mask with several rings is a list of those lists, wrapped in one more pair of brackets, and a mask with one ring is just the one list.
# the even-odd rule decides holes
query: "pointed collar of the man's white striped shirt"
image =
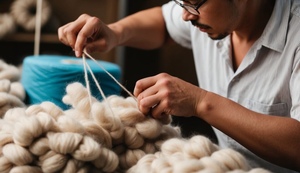
{"label": "pointed collar of the man's white striped shirt", "polygon": [[289,0],[276,0],[273,13],[259,39],[261,45],[282,53],[286,44],[290,10]]}

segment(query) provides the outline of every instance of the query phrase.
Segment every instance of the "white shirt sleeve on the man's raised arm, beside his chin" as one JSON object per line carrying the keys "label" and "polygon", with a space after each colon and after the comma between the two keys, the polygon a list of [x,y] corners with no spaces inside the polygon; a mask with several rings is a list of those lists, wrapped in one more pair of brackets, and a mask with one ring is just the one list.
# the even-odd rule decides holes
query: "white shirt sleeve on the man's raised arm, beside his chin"
{"label": "white shirt sleeve on the man's raised arm, beside his chin", "polygon": [[183,47],[191,49],[191,23],[182,19],[182,10],[174,1],[170,1],[162,6],[164,20],[170,37]]}

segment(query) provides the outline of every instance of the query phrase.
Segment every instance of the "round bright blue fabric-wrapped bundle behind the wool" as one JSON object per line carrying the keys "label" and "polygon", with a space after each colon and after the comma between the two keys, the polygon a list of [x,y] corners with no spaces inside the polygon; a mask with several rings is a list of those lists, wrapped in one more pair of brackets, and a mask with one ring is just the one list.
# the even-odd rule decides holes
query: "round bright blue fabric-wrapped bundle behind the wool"
{"label": "round bright blue fabric-wrapped bundle behind the wool", "polygon": [[[116,79],[120,78],[120,67],[116,64],[98,61]],[[87,59],[105,95],[119,95],[119,85],[111,79],[93,60]],[[101,94],[88,72],[91,93],[97,99]],[[50,101],[62,109],[67,109],[61,99],[66,94],[69,83],[80,82],[85,86],[82,59],[69,56],[41,55],[28,56],[23,61],[22,85],[27,93],[26,104]]]}

